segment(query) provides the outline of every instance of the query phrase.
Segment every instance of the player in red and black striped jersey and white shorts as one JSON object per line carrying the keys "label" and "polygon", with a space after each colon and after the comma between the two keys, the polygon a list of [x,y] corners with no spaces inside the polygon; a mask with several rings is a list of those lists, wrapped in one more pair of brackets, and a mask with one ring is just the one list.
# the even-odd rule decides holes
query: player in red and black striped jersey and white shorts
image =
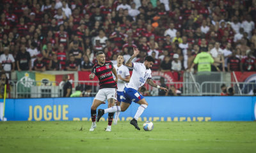
{"label": "player in red and black striped jersey and white shorts", "polygon": [[[92,73],[89,75],[89,77],[91,80],[93,80],[95,75],[97,76],[99,79],[100,89],[93,99],[91,107],[92,127],[90,128],[90,131],[94,131],[96,128],[95,119],[97,107],[101,103],[104,103],[106,99],[108,99],[108,108],[114,106],[116,100],[116,83],[118,80],[116,69],[112,62],[106,61],[104,52],[97,52],[96,55],[98,63],[93,66]],[[116,77],[115,80],[113,78],[113,74]],[[113,116],[114,113],[108,113],[108,127],[106,128],[106,131],[111,131]]]}

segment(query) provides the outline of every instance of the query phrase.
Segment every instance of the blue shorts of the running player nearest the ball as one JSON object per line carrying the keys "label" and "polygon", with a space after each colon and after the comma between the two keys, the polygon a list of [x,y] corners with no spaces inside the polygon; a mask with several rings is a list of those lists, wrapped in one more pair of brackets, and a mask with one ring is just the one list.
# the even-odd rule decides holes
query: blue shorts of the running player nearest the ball
{"label": "blue shorts of the running player nearest the ball", "polygon": [[122,98],[122,102],[131,104],[132,101],[137,103],[140,99],[144,97],[140,94],[140,92],[136,91],[132,88],[124,88],[124,97]]}

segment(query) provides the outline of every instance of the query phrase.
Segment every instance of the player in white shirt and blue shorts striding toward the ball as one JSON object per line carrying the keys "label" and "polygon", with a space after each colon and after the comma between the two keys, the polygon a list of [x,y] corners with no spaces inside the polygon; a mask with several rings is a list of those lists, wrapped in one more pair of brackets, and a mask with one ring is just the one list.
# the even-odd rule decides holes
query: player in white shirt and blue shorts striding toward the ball
{"label": "player in white shirt and blue shorts striding toward the ball", "polygon": [[125,85],[124,88],[124,97],[122,98],[121,106],[113,106],[111,108],[107,108],[105,110],[99,109],[97,114],[97,122],[99,122],[100,117],[104,115],[104,113],[113,113],[113,112],[124,112],[131,105],[131,102],[138,103],[140,106],[134,115],[134,118],[131,120],[131,124],[138,130],[140,130],[137,120],[143,111],[147,108],[148,103],[145,98],[138,92],[138,89],[147,83],[152,87],[157,87],[158,89],[162,89],[164,91],[168,91],[164,87],[160,87],[155,84],[151,79],[151,70],[150,68],[154,64],[155,60],[152,56],[145,57],[145,61],[143,63],[131,62],[134,57],[139,54],[138,48],[133,49],[132,57],[125,63],[125,66],[129,66],[133,68],[132,77],[130,82]]}

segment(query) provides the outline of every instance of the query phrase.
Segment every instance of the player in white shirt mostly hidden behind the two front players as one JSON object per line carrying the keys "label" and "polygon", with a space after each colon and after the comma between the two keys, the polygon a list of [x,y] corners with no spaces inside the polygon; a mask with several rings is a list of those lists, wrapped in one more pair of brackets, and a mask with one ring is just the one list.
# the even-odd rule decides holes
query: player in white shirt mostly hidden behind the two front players
{"label": "player in white shirt mostly hidden behind the two front players", "polygon": [[[117,64],[114,65],[116,69],[116,73],[118,76],[118,82],[117,82],[117,101],[116,101],[116,106],[120,106],[121,99],[124,97],[124,87],[127,82],[130,80],[130,72],[129,69],[123,65],[124,63],[124,56],[123,55],[118,55],[117,57]],[[113,76],[115,79],[115,76]],[[114,119],[114,124],[117,124],[118,116],[120,112],[116,112],[115,119]]]}

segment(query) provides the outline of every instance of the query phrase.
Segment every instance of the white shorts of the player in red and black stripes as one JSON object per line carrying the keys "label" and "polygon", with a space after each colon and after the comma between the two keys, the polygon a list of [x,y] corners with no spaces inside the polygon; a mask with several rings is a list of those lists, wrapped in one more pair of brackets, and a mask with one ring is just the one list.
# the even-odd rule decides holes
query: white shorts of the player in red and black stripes
{"label": "white shorts of the player in red and black stripes", "polygon": [[115,88],[103,88],[99,89],[98,93],[96,94],[94,99],[100,101],[106,101],[106,99],[116,99],[116,89]]}

